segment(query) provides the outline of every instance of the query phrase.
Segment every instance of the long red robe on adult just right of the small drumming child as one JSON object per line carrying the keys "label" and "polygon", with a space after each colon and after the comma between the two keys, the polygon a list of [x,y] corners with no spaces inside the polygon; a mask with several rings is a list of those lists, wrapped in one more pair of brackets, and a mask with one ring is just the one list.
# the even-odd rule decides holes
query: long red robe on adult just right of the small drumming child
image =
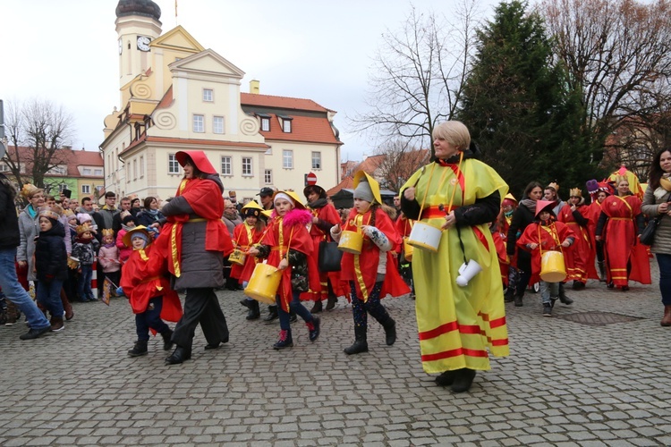
{"label": "long red robe on adult just right of the small drumming child", "polygon": [[[579,206],[578,212],[588,220],[591,218],[590,207]],[[571,206],[566,204],[559,210],[557,221],[563,222],[575,233],[572,249],[567,250],[564,255],[566,263],[566,280],[575,280],[581,283],[587,283],[587,279],[599,279],[597,269],[594,267],[594,257],[596,256],[596,246],[590,237],[588,226],[582,226],[576,222],[573,216]]]}

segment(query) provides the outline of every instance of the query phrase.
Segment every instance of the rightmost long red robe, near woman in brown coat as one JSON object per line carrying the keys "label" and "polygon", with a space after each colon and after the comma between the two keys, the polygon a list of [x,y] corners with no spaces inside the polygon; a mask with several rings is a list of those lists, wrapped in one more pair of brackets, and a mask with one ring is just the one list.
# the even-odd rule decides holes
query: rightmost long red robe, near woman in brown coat
{"label": "rightmost long red robe, near woman in brown coat", "polygon": [[[608,196],[601,203],[608,216],[602,238],[605,238],[607,281],[616,287],[628,285],[629,280],[650,284],[650,259],[645,246],[638,242],[635,219],[641,214],[641,199],[636,196]],[[627,264],[631,262],[631,272]]]}

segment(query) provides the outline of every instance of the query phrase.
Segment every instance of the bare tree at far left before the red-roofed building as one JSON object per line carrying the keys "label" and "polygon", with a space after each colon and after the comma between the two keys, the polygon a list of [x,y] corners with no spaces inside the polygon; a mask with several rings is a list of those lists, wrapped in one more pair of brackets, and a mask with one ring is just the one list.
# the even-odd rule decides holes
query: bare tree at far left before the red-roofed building
{"label": "bare tree at far left before the red-roofed building", "polygon": [[44,188],[45,174],[68,163],[70,152],[60,149],[72,139],[72,122],[72,115],[62,105],[50,101],[9,103],[5,114],[9,144],[2,161],[19,187],[30,181]]}

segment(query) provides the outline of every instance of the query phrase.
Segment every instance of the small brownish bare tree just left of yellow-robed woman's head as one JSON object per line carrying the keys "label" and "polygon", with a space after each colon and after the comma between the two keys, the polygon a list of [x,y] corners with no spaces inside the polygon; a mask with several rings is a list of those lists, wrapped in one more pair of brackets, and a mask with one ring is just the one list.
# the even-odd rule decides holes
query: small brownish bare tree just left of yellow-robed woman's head
{"label": "small brownish bare tree just left of yellow-robed woman's head", "polygon": [[428,149],[413,148],[406,139],[395,139],[379,147],[376,155],[383,156],[375,170],[380,186],[398,191],[412,173],[429,163],[431,154]]}

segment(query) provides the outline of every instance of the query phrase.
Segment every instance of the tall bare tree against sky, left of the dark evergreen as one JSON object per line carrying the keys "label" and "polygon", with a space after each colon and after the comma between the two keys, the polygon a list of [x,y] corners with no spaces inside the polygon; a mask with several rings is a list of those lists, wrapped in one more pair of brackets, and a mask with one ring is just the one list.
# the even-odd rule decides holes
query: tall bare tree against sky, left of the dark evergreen
{"label": "tall bare tree against sky, left of the dark evergreen", "polygon": [[436,123],[454,116],[479,15],[477,0],[463,0],[451,11],[453,21],[412,7],[400,30],[382,35],[369,77],[369,110],[350,118],[354,130],[426,147]]}

